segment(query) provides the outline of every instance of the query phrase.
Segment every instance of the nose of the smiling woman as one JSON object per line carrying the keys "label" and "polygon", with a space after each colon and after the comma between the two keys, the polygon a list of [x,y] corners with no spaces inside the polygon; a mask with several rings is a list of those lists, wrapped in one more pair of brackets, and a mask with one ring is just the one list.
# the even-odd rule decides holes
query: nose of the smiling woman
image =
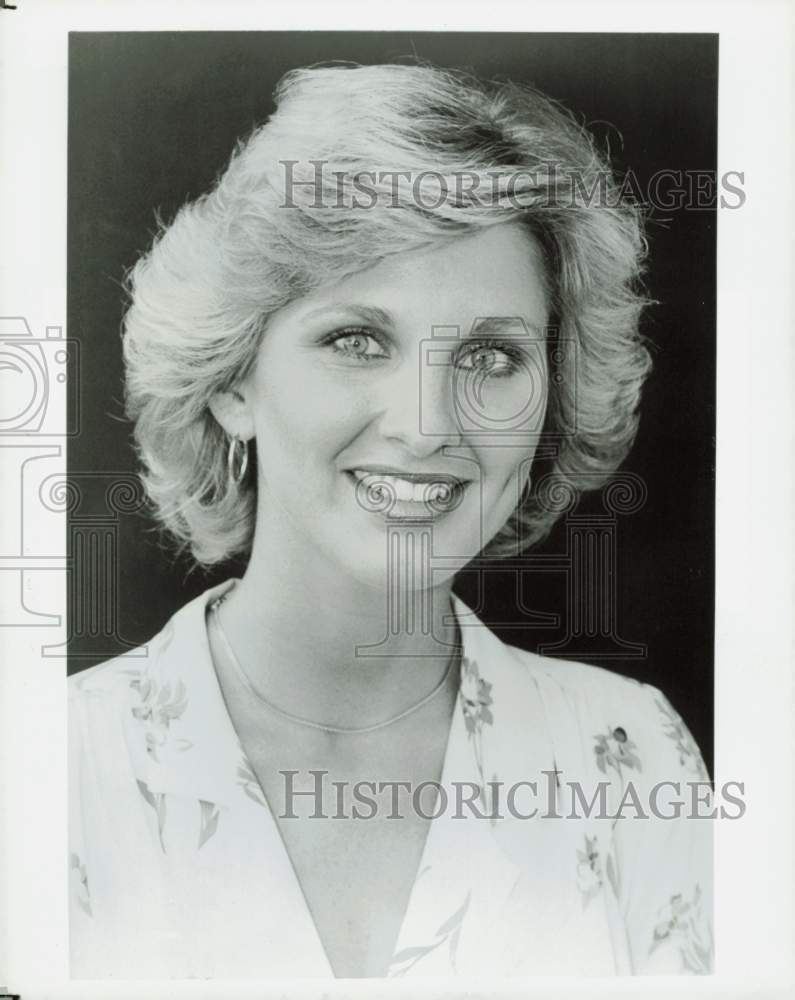
{"label": "nose of the smiling woman", "polygon": [[418,458],[461,444],[449,365],[421,357],[419,364],[401,365],[384,389],[379,430],[385,438]]}

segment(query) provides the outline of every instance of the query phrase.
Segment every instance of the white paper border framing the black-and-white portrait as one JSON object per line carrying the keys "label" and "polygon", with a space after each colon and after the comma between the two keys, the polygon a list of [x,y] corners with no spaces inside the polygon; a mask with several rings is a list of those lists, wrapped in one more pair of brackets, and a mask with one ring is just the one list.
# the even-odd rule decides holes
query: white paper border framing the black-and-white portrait
{"label": "white paper border framing the black-and-white portrait", "polygon": [[[279,5],[228,0],[16,0],[0,9],[0,315],[66,330],[67,47],[70,31],[456,30],[716,32],[719,175],[744,174],[718,213],[716,783],[745,782],[747,812],[715,828],[717,973],[687,980],[379,980],[379,996],[795,992],[793,72],[795,7],[776,0],[598,4]],[[367,11],[365,20],[364,11]],[[65,442],[60,456],[65,472]],[[56,442],[56,446],[57,442]],[[66,445],[68,446],[68,445]],[[4,517],[22,516],[0,466]],[[35,513],[31,514],[35,517]],[[65,559],[65,517],[60,555]],[[51,529],[48,529],[51,530]],[[56,553],[54,552],[54,555]],[[62,560],[63,561],[63,560]],[[12,565],[0,556],[0,569]],[[3,574],[0,574],[2,576]],[[6,574],[11,579],[15,574]],[[61,628],[0,628],[0,986],[33,998],[369,996],[373,981],[71,981],[67,931],[66,661],[62,571],[22,574]],[[0,584],[0,602],[7,599]],[[5,597],[4,597],[5,595]],[[2,610],[0,604],[0,610]],[[46,635],[43,633],[46,631]],[[0,990],[2,992],[2,990]]]}

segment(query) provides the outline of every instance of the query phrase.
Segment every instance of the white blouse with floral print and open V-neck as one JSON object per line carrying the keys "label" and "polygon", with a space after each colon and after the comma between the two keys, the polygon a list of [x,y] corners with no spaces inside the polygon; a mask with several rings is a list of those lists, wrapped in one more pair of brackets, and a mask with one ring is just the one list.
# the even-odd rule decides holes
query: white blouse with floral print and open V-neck
{"label": "white blouse with floral print and open V-neck", "polygon": [[[206,609],[232,584],[70,680],[75,978],[333,976],[215,676]],[[430,823],[388,975],[710,972],[711,823],[676,809],[708,778],[681,718],[455,611],[441,784],[475,794]]]}

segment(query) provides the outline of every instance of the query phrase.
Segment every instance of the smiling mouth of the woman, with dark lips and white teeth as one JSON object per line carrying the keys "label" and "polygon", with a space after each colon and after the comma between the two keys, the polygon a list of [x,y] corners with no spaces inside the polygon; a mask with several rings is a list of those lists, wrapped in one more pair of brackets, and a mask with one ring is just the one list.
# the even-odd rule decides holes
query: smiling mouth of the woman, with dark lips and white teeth
{"label": "smiling mouth of the woman, with dark lips and white teeth", "polygon": [[347,475],[364,509],[397,516],[448,513],[459,505],[470,482],[445,473],[349,469]]}

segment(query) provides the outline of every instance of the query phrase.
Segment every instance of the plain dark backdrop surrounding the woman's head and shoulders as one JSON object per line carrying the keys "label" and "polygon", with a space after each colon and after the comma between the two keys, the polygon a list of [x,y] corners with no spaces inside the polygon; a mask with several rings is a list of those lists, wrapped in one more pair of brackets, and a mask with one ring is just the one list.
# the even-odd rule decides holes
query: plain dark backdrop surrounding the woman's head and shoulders
{"label": "plain dark backdrop surrounding the woman's head and shoulders", "polygon": [[[135,469],[121,402],[120,282],[150,243],[155,210],[168,220],[206,190],[235,140],[271,112],[274,84],[287,70],[412,56],[534,84],[608,141],[614,165],[631,168],[641,185],[661,169],[716,168],[716,35],[72,33],[68,330],[80,341],[80,378],[70,388],[81,432],[70,442],[68,466],[83,498],[70,514],[72,672],[146,641],[188,599],[241,572],[191,571],[144,513],[130,512],[134,503],[105,509],[108,482]],[[659,304],[642,330],[656,345],[655,368],[624,466],[644,480],[648,496],[640,510],[618,518],[614,571],[618,632],[646,648],[607,659],[614,643],[597,637],[588,649],[571,646],[563,655],[662,688],[711,770],[716,211],[657,211],[648,237],[646,284]],[[577,513],[603,510],[596,496]],[[105,525],[102,537],[113,549],[101,587],[94,585],[104,596],[90,598],[110,606],[104,633],[83,617],[86,586],[97,574],[74,569],[74,539],[86,525]],[[554,559],[566,547],[561,521],[534,551]],[[510,566],[489,573],[482,617],[528,649],[563,638],[566,574],[531,570],[522,587],[525,603],[557,615],[559,627],[532,619],[518,630],[505,627],[517,620]],[[473,574],[457,586],[470,603],[477,589]]]}

